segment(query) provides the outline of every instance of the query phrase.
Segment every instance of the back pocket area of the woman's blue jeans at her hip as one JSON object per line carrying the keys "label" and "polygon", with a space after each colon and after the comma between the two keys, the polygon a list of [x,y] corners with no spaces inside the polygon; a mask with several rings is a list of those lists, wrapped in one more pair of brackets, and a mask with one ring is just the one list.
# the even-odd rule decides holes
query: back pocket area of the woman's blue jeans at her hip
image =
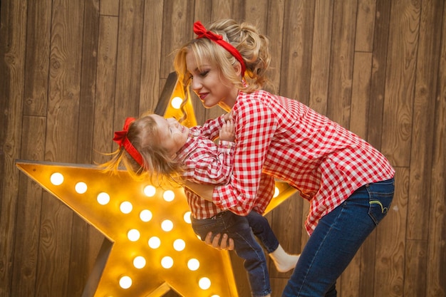
{"label": "back pocket area of the woman's blue jeans at her hip", "polygon": [[376,225],[385,217],[393,200],[395,185],[393,179],[385,182],[376,182],[367,187],[369,199],[368,215]]}

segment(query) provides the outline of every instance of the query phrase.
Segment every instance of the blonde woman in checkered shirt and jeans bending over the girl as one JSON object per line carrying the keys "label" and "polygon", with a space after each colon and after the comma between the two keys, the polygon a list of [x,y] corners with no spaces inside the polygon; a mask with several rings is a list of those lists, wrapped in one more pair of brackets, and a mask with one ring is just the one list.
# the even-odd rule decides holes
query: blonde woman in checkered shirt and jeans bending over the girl
{"label": "blonde woman in checkered shirt and jeans bending over the girl", "polygon": [[[240,215],[253,207],[261,213],[269,203],[261,194],[262,172],[299,189],[310,204],[310,238],[283,296],[336,296],[336,279],[388,212],[395,170],[353,132],[297,100],[261,90],[270,56],[268,39],[254,26],[222,20],[207,31],[198,21],[194,31],[197,38],[177,51],[175,70],[204,107],[232,113],[237,147],[228,184],[187,187]],[[209,136],[223,123],[212,122]]]}

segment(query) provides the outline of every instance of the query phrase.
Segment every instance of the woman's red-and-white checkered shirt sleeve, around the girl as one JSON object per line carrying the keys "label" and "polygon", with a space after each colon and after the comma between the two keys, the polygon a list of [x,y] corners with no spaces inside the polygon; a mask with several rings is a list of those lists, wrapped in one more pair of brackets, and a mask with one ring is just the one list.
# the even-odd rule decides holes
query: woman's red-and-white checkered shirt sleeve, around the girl
{"label": "woman's red-and-white checkered shirt sleeve, around the girl", "polygon": [[[214,204],[235,214],[247,215],[257,204],[268,204],[271,196],[259,194],[261,173],[269,145],[276,132],[277,121],[261,98],[239,98],[232,115],[237,146],[229,184],[214,188]],[[264,201],[259,202],[260,199]]]}

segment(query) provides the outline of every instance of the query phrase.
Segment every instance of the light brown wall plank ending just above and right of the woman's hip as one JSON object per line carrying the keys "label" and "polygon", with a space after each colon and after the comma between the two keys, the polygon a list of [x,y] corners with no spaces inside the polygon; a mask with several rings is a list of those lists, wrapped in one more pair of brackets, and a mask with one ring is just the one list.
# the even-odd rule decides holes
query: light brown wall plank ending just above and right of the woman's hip
{"label": "light brown wall plank ending just above and right of the woman's hip", "polygon": [[410,162],[413,91],[418,47],[420,2],[394,1],[390,11],[388,63],[385,80],[383,153],[395,166]]}

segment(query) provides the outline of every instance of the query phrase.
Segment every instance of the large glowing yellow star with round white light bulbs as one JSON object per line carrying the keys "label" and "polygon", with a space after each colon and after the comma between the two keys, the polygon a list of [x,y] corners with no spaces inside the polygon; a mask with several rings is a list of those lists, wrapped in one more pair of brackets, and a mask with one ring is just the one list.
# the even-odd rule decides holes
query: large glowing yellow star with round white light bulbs
{"label": "large glowing yellow star with round white light bulbs", "polygon": [[[181,117],[173,107],[175,98],[184,98],[177,85],[165,116]],[[182,108],[186,125],[196,125],[190,101]],[[128,172],[110,174],[94,165],[16,165],[107,237],[83,296],[157,297],[170,290],[186,297],[238,296],[229,253],[197,239],[183,189],[153,187]],[[267,212],[295,192],[288,184],[276,187]]]}

